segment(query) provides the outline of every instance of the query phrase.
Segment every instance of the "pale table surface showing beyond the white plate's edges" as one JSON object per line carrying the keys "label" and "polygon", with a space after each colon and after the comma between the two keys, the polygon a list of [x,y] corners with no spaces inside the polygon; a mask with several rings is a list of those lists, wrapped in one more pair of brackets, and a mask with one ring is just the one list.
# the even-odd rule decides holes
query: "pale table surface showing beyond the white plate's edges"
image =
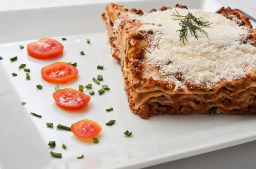
{"label": "pale table surface showing beyond the white plate's edges", "polygon": [[[0,11],[114,2],[117,0],[0,0]],[[131,0],[135,1],[135,0]],[[218,0],[231,8],[239,8],[256,18],[256,0]],[[256,141],[201,155],[163,163],[145,169],[255,169]]]}

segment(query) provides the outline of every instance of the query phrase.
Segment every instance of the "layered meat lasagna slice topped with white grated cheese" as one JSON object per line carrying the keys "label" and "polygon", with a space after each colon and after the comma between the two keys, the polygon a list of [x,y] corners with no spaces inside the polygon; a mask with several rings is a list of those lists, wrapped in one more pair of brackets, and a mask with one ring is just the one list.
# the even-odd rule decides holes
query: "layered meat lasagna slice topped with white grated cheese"
{"label": "layered meat lasagna slice topped with white grated cheese", "polygon": [[[212,24],[195,34],[186,29],[183,42],[177,13]],[[256,113],[256,31],[238,11],[211,13],[177,4],[145,14],[112,3],[102,17],[129,106],[141,118]]]}

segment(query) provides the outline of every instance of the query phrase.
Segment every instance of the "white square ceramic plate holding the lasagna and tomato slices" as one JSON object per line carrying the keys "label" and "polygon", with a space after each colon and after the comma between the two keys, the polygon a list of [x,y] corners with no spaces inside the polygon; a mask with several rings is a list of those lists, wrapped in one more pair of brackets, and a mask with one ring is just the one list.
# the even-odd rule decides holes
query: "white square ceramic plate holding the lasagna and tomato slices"
{"label": "white square ceramic plate holding the lasagna and tomato slices", "polygon": [[[216,11],[221,4],[215,0],[180,0],[189,8]],[[149,11],[161,6],[175,6],[172,0],[120,3],[128,8]],[[108,4],[93,4],[0,12],[0,168],[1,169],[108,169],[142,168],[191,155],[221,149],[256,139],[256,117],[252,115],[164,115],[148,120],[140,118],[128,107],[121,68],[111,57],[100,14]],[[64,45],[64,54],[55,59],[38,60],[27,55],[26,45],[42,37],[50,37]],[[62,41],[61,38],[67,38]],[[91,43],[87,44],[86,39]],[[23,45],[21,50],[19,45]],[[84,51],[85,55],[80,55]],[[17,61],[9,58],[18,56]],[[52,98],[54,84],[41,79],[43,66],[56,61],[77,62],[77,80],[59,85],[75,88],[93,84],[95,95],[89,108],[63,110]],[[18,66],[26,63],[31,80]],[[96,69],[104,65],[104,70]],[[18,76],[12,77],[16,72]],[[101,85],[111,90],[99,96],[92,78],[104,77]],[[43,85],[38,90],[36,85]],[[84,93],[91,90],[85,89]],[[26,105],[21,105],[21,102]],[[114,110],[106,112],[106,108]],[[29,115],[43,115],[42,119]],[[72,132],[57,130],[57,124],[70,126],[81,119],[102,125],[99,144],[83,141]],[[115,119],[113,126],[105,123]],[[46,122],[54,123],[53,128]],[[126,137],[125,130],[134,135]],[[48,141],[56,141],[50,148]],[[62,149],[62,144],[67,149]],[[50,151],[62,153],[53,158]],[[76,157],[84,155],[83,159]]]}

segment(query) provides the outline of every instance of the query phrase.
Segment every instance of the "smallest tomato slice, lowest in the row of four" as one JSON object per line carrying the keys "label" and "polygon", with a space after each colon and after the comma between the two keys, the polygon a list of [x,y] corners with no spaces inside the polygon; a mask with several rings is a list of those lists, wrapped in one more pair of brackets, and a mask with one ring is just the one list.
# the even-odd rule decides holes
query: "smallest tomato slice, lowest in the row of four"
{"label": "smallest tomato slice, lowest in the row of four", "polygon": [[78,138],[91,139],[102,131],[102,127],[95,121],[83,119],[72,124],[71,131]]}

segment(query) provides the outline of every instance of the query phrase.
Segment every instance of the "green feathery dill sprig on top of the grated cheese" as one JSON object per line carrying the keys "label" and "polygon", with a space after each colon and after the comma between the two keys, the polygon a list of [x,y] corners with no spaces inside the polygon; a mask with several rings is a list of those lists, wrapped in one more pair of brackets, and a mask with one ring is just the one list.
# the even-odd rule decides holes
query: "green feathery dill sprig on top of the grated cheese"
{"label": "green feathery dill sprig on top of the grated cheese", "polygon": [[186,16],[182,16],[179,14],[176,8],[175,8],[175,11],[173,11],[173,14],[171,16],[182,18],[182,19],[175,19],[175,20],[180,20],[179,25],[181,26],[181,29],[176,32],[180,32],[180,41],[182,39],[182,42],[184,45],[185,45],[184,39],[188,41],[188,39],[186,38],[188,34],[188,29],[190,34],[194,34],[195,38],[198,39],[197,31],[203,32],[207,36],[207,32],[204,31],[203,28],[210,27],[209,25],[212,24],[212,23],[209,23],[209,21],[204,20],[204,18],[202,17],[195,17],[190,11]]}

